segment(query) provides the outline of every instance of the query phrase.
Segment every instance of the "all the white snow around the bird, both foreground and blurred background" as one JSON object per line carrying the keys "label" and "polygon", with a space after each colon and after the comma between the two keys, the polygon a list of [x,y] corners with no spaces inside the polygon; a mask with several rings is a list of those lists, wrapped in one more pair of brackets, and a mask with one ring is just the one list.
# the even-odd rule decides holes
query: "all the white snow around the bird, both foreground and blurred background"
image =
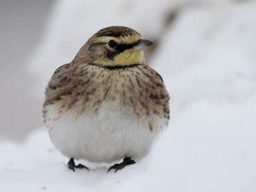
{"label": "all the white snow around the bird, both foreground and blurred background", "polygon": [[255,1],[57,1],[27,59],[43,89],[93,33],[124,25],[156,46],[148,64],[170,94],[169,128],[151,154],[117,173],[67,169],[45,127],[0,140],[0,191],[256,191]]}

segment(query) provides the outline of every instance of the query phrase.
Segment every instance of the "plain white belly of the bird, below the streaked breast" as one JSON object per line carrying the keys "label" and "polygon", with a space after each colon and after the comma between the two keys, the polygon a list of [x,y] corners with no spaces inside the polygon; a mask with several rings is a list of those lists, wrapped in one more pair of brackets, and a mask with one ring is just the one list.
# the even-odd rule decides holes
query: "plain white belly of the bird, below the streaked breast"
{"label": "plain white belly of the bird, below the streaked breast", "polygon": [[69,158],[92,162],[111,163],[126,156],[134,160],[145,157],[158,132],[149,129],[149,121],[157,127],[166,123],[154,116],[138,120],[133,110],[121,109],[118,103],[103,103],[96,115],[78,116],[69,110],[57,117],[55,108],[47,106],[52,143]]}

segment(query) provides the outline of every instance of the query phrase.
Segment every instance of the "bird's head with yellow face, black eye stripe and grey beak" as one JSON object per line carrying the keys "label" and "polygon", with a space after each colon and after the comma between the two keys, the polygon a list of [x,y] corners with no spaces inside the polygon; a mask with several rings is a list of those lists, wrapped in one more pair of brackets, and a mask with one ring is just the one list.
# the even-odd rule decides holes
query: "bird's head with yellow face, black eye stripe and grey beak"
{"label": "bird's head with yellow face, black eye stripe and grey beak", "polygon": [[81,47],[73,62],[108,66],[143,64],[143,49],[151,44],[131,28],[110,26],[96,32]]}

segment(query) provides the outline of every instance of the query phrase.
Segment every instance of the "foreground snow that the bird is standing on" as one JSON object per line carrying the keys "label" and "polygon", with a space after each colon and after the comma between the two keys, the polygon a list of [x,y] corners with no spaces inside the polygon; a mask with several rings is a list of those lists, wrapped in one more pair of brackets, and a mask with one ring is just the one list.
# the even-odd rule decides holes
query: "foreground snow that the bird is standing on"
{"label": "foreground snow that the bird is standing on", "polygon": [[45,128],[23,145],[0,143],[0,191],[255,191],[255,96],[189,104],[145,160],[117,173],[73,173]]}

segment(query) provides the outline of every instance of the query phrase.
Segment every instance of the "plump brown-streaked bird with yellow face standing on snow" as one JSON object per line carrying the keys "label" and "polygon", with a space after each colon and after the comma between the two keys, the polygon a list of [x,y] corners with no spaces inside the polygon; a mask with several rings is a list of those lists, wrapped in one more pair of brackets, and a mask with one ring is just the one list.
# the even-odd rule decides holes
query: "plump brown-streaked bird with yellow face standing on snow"
{"label": "plump brown-streaked bird with yellow face standing on snow", "polygon": [[146,157],[166,130],[169,94],[144,56],[152,44],[134,29],[110,26],[55,70],[45,89],[43,119],[73,172],[89,170],[75,164],[80,159],[113,163],[108,172],[117,172]]}

